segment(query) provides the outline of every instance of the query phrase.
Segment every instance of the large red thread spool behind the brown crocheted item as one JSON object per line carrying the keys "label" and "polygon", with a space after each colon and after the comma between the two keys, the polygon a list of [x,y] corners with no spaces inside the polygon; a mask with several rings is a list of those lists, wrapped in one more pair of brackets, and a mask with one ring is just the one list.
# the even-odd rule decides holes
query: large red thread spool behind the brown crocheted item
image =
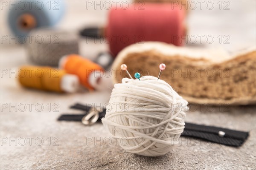
{"label": "large red thread spool behind the brown crocheted item", "polygon": [[[170,3],[145,3],[143,9],[112,8],[105,37],[114,56],[123,48],[141,41],[183,45],[185,10]],[[143,43],[143,42],[142,42]]]}

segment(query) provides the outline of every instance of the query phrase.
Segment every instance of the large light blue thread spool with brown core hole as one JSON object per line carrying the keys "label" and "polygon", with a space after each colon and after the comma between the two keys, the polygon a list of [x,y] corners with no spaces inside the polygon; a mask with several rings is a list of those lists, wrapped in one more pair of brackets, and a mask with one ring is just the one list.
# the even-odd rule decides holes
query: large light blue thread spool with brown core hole
{"label": "large light blue thread spool with brown core hole", "polygon": [[[11,1],[10,1],[11,3]],[[16,0],[10,6],[8,22],[21,43],[34,28],[54,26],[64,14],[64,1]]]}

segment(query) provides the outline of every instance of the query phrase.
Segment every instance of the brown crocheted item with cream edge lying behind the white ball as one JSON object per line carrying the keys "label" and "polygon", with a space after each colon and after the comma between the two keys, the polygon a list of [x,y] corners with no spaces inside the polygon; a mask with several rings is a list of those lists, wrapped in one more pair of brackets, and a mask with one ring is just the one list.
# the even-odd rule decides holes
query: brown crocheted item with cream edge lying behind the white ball
{"label": "brown crocheted item with cream edge lying behind the white ball", "polygon": [[[253,105],[256,103],[256,49],[230,56],[218,48],[177,47],[163,42],[145,42],[122,50],[113,63],[122,63],[130,74],[142,76],[159,73],[158,64],[165,63],[161,78],[176,89],[189,103],[221,105]],[[114,83],[124,77],[118,71]]]}

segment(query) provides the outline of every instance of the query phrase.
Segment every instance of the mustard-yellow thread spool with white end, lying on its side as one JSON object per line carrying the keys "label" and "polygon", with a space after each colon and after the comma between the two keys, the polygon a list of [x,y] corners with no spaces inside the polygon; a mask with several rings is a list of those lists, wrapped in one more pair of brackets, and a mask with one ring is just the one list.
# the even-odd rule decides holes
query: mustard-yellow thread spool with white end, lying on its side
{"label": "mustard-yellow thread spool with white end, lying on its side", "polygon": [[76,75],[51,67],[20,67],[18,79],[20,84],[26,88],[44,91],[73,93],[79,88],[79,78]]}

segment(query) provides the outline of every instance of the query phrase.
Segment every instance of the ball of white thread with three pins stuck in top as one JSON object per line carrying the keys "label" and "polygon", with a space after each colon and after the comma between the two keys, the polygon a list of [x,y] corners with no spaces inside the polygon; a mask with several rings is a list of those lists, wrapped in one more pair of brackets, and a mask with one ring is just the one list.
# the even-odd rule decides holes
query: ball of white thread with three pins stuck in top
{"label": "ball of white thread with three pins stuck in top", "polygon": [[114,85],[103,124],[128,152],[160,156],[179,143],[188,102],[156,77]]}

